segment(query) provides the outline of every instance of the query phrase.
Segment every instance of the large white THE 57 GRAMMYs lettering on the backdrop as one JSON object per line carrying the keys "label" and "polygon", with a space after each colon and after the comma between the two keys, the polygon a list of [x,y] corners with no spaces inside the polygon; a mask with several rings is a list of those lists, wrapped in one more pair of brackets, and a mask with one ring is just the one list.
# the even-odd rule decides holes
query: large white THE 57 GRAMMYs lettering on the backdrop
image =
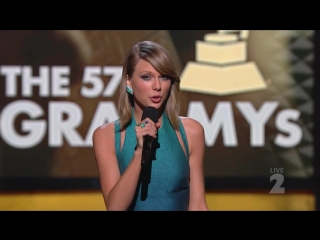
{"label": "large white THE 57 GRAMMYs lettering on the backdrop", "polygon": [[[6,105],[0,113],[0,135],[10,146],[32,148],[48,136],[50,147],[61,147],[64,140],[74,147],[92,147],[94,129],[105,122],[116,120],[119,115],[114,101],[98,101],[95,113],[82,137],[77,128],[83,122],[86,107],[76,101],[61,100],[70,97],[69,66],[41,66],[38,74],[33,74],[30,66],[0,66],[1,79],[4,79]],[[86,66],[83,70],[80,95],[82,98],[112,97],[121,82],[122,67]],[[107,84],[102,76],[109,76]],[[47,112],[38,101],[31,100],[37,89],[41,99],[56,98],[48,101]],[[11,99],[11,101],[10,101]],[[298,145],[302,139],[302,129],[297,123],[300,111],[283,109],[278,111],[277,101],[266,101],[258,109],[249,101],[217,102],[211,117],[208,116],[202,101],[188,103],[187,116],[196,119],[204,127],[208,147],[213,146],[221,132],[225,147],[238,145],[233,105],[241,112],[249,127],[250,145],[265,145],[265,125],[270,119],[278,133],[274,143],[279,147],[289,148]],[[27,116],[16,126],[19,116]],[[47,116],[46,118],[44,116]]]}

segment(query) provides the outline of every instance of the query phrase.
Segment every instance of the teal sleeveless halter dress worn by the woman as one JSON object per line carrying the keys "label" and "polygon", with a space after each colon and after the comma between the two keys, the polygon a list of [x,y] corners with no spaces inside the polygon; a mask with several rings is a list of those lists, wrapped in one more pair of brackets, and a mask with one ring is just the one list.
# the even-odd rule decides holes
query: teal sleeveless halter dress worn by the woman
{"label": "teal sleeveless halter dress worn by the woman", "polygon": [[[115,121],[115,146],[120,174],[130,163],[136,146],[135,118],[126,128],[124,144],[120,150],[120,124]],[[166,114],[158,137],[153,140],[148,164],[141,170],[134,199],[129,211],[187,211],[189,205],[189,147],[180,120],[181,133],[187,156]]]}

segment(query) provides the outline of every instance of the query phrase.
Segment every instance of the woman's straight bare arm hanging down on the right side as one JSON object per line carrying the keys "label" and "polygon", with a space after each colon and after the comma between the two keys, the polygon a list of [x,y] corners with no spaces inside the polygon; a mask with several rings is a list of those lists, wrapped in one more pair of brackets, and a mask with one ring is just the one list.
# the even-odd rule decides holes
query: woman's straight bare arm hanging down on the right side
{"label": "woman's straight bare arm hanging down on the right side", "polygon": [[205,198],[203,173],[204,129],[192,118],[181,118],[189,145],[190,202],[189,210],[209,210]]}

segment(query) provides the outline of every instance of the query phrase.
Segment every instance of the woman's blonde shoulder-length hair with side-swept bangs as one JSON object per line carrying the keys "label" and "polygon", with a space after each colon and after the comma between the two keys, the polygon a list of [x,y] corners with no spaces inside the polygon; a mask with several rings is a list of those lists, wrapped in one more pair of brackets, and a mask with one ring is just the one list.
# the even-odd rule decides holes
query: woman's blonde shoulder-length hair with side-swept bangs
{"label": "woman's blonde shoulder-length hair with side-swept bangs", "polygon": [[142,41],[132,46],[124,59],[122,69],[122,82],[118,100],[120,115],[120,128],[123,130],[131,121],[133,96],[126,91],[127,76],[131,78],[140,59],[149,62],[161,75],[171,80],[171,89],[164,104],[164,113],[168,116],[174,129],[179,128],[180,112],[180,77],[169,51],[158,43]]}

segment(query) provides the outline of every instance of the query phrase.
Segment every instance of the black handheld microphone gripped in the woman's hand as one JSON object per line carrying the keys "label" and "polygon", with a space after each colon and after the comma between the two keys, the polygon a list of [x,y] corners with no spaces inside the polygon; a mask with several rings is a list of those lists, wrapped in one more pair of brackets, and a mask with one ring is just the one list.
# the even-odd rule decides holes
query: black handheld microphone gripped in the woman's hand
{"label": "black handheld microphone gripped in the woman's hand", "polygon": [[[158,122],[158,111],[155,107],[148,106],[142,112],[141,121],[145,118],[150,118],[154,123]],[[141,158],[141,166],[147,164],[151,149],[152,149],[153,137],[147,135],[143,137],[143,147],[142,147],[142,158]]]}

